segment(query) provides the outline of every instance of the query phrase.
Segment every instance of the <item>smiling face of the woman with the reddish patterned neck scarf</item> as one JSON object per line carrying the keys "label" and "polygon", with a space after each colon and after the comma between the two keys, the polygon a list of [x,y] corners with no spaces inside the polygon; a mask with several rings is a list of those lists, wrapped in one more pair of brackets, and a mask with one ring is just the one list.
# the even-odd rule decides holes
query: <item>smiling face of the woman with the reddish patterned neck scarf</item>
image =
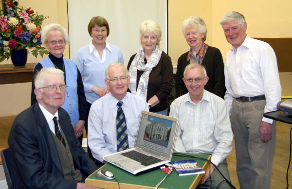
{"label": "smiling face of the woman with the reddish patterned neck scarf", "polygon": [[203,43],[203,37],[205,35],[201,34],[198,27],[185,28],[185,39],[187,44],[194,51],[199,51]]}

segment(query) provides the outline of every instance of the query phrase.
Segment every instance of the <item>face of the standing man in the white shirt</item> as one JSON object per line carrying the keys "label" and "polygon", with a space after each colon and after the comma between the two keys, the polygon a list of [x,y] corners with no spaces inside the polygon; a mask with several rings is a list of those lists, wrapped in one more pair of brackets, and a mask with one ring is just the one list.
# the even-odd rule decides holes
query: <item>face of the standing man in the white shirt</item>
{"label": "face of the standing man in the white shirt", "polygon": [[246,37],[246,22],[243,26],[238,24],[238,20],[231,20],[222,24],[225,37],[236,49],[240,47]]}

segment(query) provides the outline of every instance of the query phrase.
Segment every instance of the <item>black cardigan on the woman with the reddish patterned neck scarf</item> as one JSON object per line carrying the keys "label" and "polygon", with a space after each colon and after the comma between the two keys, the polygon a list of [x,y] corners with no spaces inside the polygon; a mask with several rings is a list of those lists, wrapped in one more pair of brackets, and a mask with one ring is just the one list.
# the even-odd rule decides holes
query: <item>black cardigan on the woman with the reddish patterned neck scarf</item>
{"label": "black cardigan on the woman with the reddish patterned neck scarf", "polygon": [[[186,94],[187,88],[183,83],[183,71],[190,61],[187,60],[188,52],[183,53],[178,59],[178,66],[175,79],[176,98]],[[207,71],[209,77],[208,83],[205,85],[205,89],[209,92],[216,94],[224,99],[226,87],[224,77],[224,64],[222,55],[219,49],[209,46],[202,65]]]}

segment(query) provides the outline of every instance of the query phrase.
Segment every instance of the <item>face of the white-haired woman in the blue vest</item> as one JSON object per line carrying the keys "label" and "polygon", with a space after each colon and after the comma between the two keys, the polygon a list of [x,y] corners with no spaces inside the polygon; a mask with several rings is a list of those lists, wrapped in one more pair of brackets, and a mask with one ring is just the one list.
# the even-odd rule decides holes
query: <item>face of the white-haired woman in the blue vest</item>
{"label": "face of the white-haired woman in the blue vest", "polygon": [[55,57],[60,58],[65,50],[65,39],[60,31],[51,31],[46,42],[47,49]]}

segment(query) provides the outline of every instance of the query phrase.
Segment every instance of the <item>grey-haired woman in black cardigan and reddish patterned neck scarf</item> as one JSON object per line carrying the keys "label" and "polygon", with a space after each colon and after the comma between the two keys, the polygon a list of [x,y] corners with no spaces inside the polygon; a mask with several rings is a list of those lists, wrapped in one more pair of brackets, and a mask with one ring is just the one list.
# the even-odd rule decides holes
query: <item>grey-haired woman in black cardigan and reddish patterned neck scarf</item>
{"label": "grey-haired woman in black cardigan and reddish patterned neck scarf", "polygon": [[204,43],[207,38],[205,22],[200,17],[191,16],[183,21],[182,31],[190,50],[183,53],[178,59],[175,81],[176,97],[188,92],[183,83],[184,68],[188,64],[199,63],[205,67],[209,77],[204,88],[224,98],[226,88],[222,54],[219,49]]}

